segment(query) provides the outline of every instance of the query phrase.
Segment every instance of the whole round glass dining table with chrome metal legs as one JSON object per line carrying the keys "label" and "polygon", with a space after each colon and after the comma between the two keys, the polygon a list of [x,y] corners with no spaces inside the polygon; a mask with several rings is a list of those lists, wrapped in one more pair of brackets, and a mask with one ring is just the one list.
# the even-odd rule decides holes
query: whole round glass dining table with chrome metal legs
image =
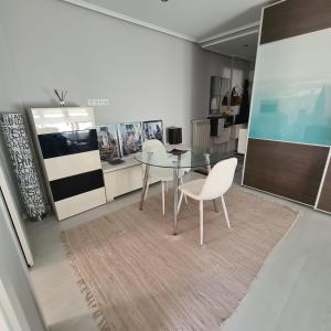
{"label": "whole round glass dining table with chrome metal legs", "polygon": [[[179,189],[179,172],[190,171],[194,169],[205,169],[211,171],[212,167],[218,161],[229,159],[234,156],[233,152],[213,152],[201,149],[173,150],[168,152],[168,159],[158,158],[153,152],[139,152],[135,154],[135,159],[145,164],[143,185],[139,209],[143,209],[143,201],[149,180],[150,167],[170,168],[173,170],[173,235],[177,234],[177,217],[178,217],[178,189]],[[214,201],[215,212],[218,211],[217,204]]]}

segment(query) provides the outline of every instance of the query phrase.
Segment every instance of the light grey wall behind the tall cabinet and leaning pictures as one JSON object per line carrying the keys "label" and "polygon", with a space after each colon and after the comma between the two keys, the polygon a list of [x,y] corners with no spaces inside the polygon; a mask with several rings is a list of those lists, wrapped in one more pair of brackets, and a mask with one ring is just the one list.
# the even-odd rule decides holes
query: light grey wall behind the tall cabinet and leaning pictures
{"label": "light grey wall behind the tall cabinet and leaning pictures", "polygon": [[[0,111],[57,105],[53,88],[63,88],[70,105],[109,98],[97,124],[161,118],[190,142],[190,120],[207,115],[210,77],[229,77],[227,56],[58,0],[1,0],[0,20]],[[236,61],[234,79],[247,73]]]}

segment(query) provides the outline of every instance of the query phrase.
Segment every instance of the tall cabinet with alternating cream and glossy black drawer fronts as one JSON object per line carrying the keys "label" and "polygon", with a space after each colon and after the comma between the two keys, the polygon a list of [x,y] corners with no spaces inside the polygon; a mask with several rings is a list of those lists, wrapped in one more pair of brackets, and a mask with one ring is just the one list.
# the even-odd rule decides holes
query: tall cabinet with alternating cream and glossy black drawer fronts
{"label": "tall cabinet with alternating cream and glossy black drawer fronts", "polygon": [[106,203],[94,109],[33,108],[30,119],[58,221]]}

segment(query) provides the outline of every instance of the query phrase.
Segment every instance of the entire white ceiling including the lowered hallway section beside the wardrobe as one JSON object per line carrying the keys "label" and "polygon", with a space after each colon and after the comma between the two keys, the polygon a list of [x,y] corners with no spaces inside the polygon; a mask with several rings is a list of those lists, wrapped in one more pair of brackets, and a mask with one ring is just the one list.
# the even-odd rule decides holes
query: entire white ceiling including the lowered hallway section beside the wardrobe
{"label": "entire white ceiling including the lowered hallway section beside the wardrobe", "polygon": [[270,0],[62,0],[200,43],[205,50],[255,60],[261,8]]}

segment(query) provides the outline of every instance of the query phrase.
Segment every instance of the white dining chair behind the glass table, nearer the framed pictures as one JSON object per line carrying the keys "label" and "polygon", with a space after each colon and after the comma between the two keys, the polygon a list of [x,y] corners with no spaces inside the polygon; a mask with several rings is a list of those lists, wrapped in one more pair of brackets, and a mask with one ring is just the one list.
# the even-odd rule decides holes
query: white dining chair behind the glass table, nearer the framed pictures
{"label": "white dining chair behind the glass table, nearer the framed pictures", "polygon": [[[171,159],[166,150],[164,145],[157,140],[151,139],[145,141],[142,143],[142,158],[146,160],[148,159],[148,153],[152,153],[152,160],[156,160],[158,164],[162,164],[163,167],[153,167],[150,166],[149,168],[149,180],[147,182],[146,193],[143,200],[147,197],[147,193],[149,190],[149,184],[152,180],[161,181],[162,185],[162,214],[166,214],[166,188],[168,189],[168,182],[173,181],[173,168],[171,164]],[[169,168],[167,168],[169,164]],[[145,168],[145,167],[143,167]],[[179,180],[180,183],[183,185],[183,177],[188,169],[180,169],[179,170]],[[186,195],[184,195],[185,202],[188,203]]]}

